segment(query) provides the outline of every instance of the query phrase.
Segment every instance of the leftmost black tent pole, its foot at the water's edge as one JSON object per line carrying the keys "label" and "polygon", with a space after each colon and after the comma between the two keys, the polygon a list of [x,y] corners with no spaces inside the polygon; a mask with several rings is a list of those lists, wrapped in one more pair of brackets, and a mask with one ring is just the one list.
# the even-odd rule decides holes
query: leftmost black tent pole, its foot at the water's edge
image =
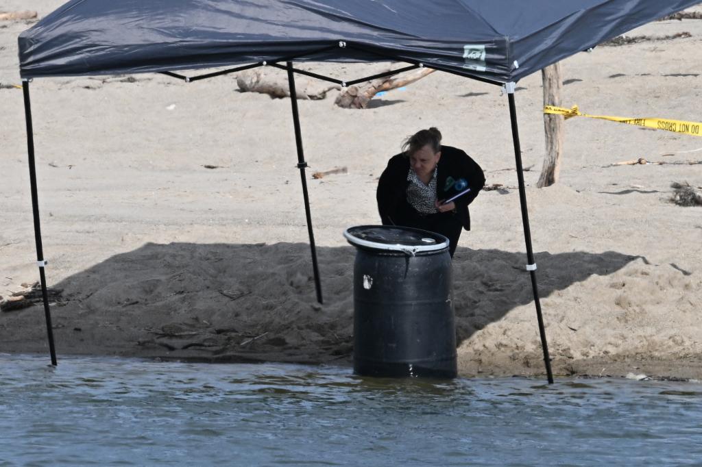
{"label": "leftmost black tent pole, its foot at the water's edge", "polygon": [[29,155],[29,183],[32,186],[32,211],[34,212],[34,240],[37,242],[37,265],[41,279],[41,297],[44,298],[44,316],[48,333],[48,349],[51,353],[51,365],[56,366],[56,351],[53,346],[53,329],[51,328],[51,311],[48,309],[46,292],[46,275],[44,274],[44,250],[41,248],[41,228],[39,227],[39,196],[37,195],[37,170],[34,166],[34,130],[32,128],[32,107],[29,105],[29,80],[22,80],[22,93],[25,95],[25,119],[27,121],[27,154]]}

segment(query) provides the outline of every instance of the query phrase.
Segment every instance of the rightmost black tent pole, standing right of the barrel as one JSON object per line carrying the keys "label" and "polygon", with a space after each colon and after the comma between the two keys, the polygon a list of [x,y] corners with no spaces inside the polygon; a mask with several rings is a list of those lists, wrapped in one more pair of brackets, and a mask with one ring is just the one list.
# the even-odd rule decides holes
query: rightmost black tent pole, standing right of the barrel
{"label": "rightmost black tent pole, standing right of the barrel", "polygon": [[548,344],[546,343],[546,330],[543,326],[543,316],[541,316],[541,302],[538,299],[538,286],[536,285],[536,263],[534,262],[534,250],[531,248],[531,231],[529,230],[529,213],[527,212],[527,191],[524,189],[524,173],[522,172],[522,148],[519,147],[519,129],[517,128],[517,107],[515,106],[515,83],[507,83],[507,97],[510,102],[510,120],[512,121],[512,141],[515,144],[515,162],[517,164],[517,180],[519,180],[519,203],[522,205],[522,224],[524,224],[524,241],[527,243],[527,269],[531,275],[531,290],[534,292],[534,304],[536,305],[536,318],[538,319],[538,332],[541,334],[541,348],[543,349],[543,363],[546,365],[546,376],[548,383],[553,383],[551,373],[551,359],[548,356]]}

